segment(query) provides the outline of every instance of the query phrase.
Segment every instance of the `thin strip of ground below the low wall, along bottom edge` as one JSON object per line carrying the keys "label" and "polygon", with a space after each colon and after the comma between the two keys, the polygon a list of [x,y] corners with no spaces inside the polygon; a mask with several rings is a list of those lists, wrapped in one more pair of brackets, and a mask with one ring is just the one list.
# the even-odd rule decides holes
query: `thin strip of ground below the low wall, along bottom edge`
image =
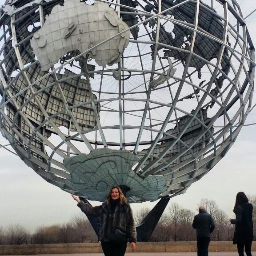
{"label": "thin strip of ground below the low wall, along bottom edge", "polygon": [[[244,255],[246,255],[244,253]],[[27,255],[26,255],[27,256]],[[40,254],[29,256],[104,256],[103,253]],[[127,252],[125,256],[197,256],[196,252]],[[237,252],[209,252],[208,256],[238,256]],[[252,252],[256,256],[256,252]]]}

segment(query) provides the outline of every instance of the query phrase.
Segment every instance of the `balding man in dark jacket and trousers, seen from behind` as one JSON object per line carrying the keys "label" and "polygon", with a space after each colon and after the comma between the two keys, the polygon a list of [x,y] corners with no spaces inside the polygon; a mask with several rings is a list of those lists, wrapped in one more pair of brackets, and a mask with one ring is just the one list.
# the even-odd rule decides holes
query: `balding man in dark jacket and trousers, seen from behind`
{"label": "balding man in dark jacket and trousers, seen from behind", "polygon": [[199,214],[194,217],[192,227],[196,228],[197,256],[208,256],[210,236],[215,228],[212,216],[203,206],[198,208]]}

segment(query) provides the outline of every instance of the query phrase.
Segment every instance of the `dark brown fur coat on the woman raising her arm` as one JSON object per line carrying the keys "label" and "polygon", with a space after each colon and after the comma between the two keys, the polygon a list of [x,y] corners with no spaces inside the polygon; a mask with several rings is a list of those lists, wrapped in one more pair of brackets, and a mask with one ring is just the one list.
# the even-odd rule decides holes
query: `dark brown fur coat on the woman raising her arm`
{"label": "dark brown fur coat on the woman raising her arm", "polygon": [[117,204],[113,217],[111,215],[110,205],[107,205],[106,202],[100,206],[92,207],[81,200],[77,206],[88,216],[100,217],[101,242],[109,242],[111,232],[114,228],[125,230],[130,242],[137,242],[135,221],[129,204]]}

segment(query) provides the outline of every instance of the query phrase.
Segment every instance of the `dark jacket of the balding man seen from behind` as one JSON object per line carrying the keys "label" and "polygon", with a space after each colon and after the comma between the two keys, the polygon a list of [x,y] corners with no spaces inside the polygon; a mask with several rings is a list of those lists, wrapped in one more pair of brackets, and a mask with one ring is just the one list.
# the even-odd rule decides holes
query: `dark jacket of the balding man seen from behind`
{"label": "dark jacket of the balding man seen from behind", "polygon": [[210,237],[215,224],[212,216],[202,211],[194,217],[192,227],[196,228],[196,237]]}

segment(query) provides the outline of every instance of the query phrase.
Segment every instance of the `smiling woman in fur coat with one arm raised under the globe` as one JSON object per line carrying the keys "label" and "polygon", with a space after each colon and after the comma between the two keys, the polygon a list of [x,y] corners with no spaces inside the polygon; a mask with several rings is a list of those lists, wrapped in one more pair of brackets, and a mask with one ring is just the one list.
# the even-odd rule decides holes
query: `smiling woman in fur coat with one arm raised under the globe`
{"label": "smiling woman in fur coat with one arm raised under the globe", "polygon": [[[100,206],[90,206],[77,196],[72,195],[78,202],[82,212],[89,216],[100,217],[100,242],[105,256],[124,256],[127,246],[127,239],[131,243],[132,251],[136,248],[136,227],[132,216],[132,209],[122,190],[112,187],[107,195],[107,200]],[[127,238],[116,241],[115,230],[122,230],[127,234]],[[119,236],[120,237],[120,236]]]}

